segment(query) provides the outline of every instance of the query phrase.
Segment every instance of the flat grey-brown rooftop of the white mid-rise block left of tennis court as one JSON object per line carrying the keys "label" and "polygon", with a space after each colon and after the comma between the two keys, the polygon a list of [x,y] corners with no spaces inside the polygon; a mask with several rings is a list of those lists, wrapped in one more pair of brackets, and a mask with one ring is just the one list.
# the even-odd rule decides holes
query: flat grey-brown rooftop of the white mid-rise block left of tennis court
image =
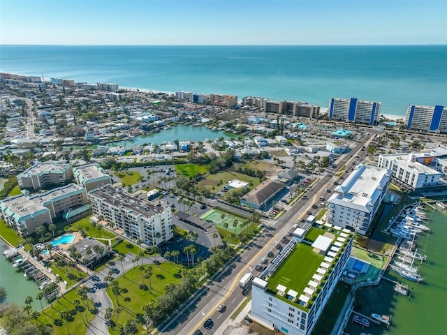
{"label": "flat grey-brown rooftop of the white mid-rise block left of tennis court", "polygon": [[163,213],[164,209],[156,207],[152,202],[139,199],[124,191],[121,188],[115,188],[111,185],[96,188],[89,192],[89,196],[106,201],[113,204],[115,207],[123,207],[127,211],[132,211],[133,215],[138,216],[154,216],[155,214]]}

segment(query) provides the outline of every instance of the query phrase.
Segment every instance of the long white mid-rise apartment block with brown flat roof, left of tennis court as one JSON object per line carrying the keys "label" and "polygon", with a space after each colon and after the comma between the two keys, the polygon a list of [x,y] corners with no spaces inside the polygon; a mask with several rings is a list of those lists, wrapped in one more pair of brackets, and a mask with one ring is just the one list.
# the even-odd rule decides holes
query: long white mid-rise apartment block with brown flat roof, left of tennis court
{"label": "long white mid-rise apartment block with brown flat roof, left of tennis court", "polygon": [[110,185],[90,191],[89,199],[94,216],[102,216],[106,223],[113,223],[126,236],[141,239],[147,246],[158,246],[174,237],[170,207],[157,207]]}

